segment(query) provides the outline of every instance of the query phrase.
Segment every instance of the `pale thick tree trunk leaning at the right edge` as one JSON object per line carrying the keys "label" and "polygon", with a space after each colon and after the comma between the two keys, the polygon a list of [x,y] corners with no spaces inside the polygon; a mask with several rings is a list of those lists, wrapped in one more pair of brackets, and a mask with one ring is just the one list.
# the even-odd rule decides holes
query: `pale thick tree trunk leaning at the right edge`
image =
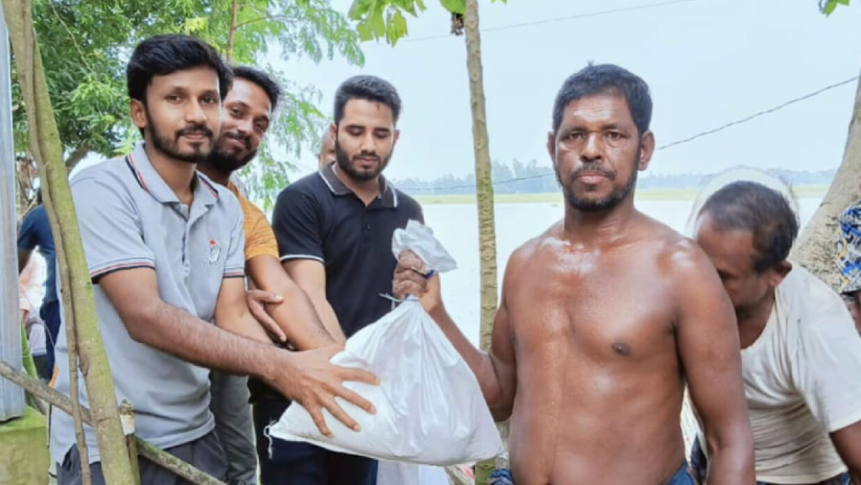
{"label": "pale thick tree trunk leaning at the right edge", "polygon": [[849,123],[843,163],[813,219],[804,228],[790,253],[796,263],[837,289],[837,219],[861,196],[861,79]]}

